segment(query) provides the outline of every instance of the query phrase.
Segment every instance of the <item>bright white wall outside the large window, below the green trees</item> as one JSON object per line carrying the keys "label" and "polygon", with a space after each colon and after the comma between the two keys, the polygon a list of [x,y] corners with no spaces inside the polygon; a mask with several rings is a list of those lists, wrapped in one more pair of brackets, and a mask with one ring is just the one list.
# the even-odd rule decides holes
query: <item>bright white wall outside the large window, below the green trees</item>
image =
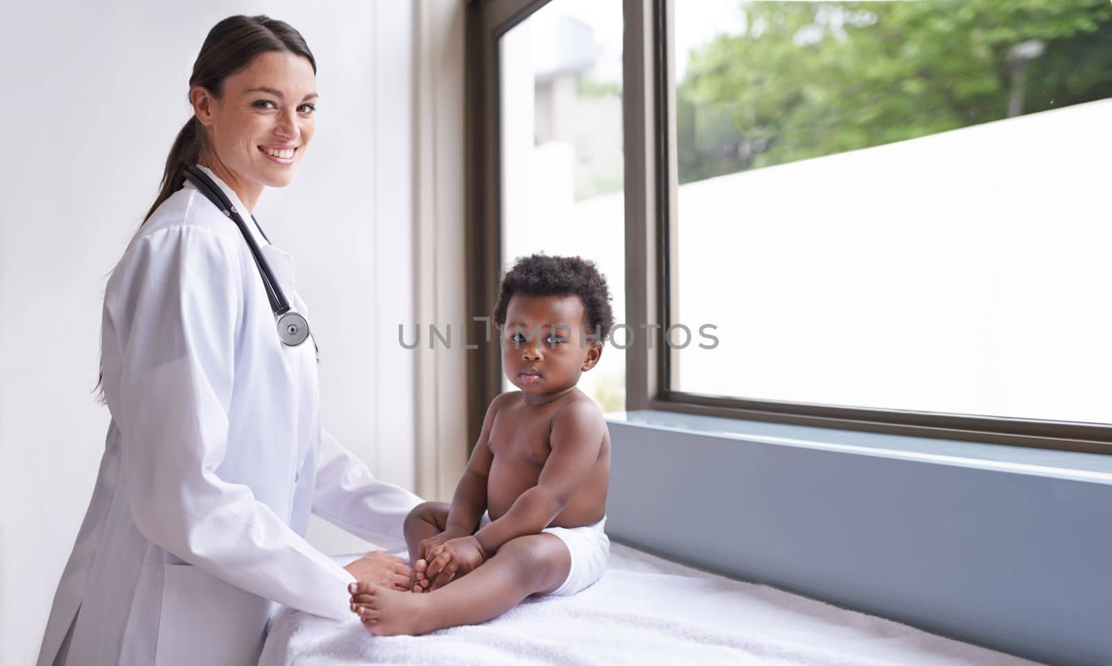
{"label": "bright white wall outside the large window, below the green trees", "polygon": [[[1110,112],[679,186],[678,321],[695,342],[675,388],[1112,423]],[[715,349],[698,348],[704,322]]]}

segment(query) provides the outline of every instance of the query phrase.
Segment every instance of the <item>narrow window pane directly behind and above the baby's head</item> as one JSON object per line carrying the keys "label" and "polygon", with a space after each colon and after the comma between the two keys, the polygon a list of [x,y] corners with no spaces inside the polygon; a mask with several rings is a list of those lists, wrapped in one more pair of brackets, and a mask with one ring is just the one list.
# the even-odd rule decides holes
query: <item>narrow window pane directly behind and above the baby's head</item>
{"label": "narrow window pane directly behind and above the baby's head", "polygon": [[[498,64],[500,268],[540,251],[593,260],[620,321],[622,4],[553,0],[499,38]],[[624,410],[625,354],[605,347],[578,386],[603,411]]]}

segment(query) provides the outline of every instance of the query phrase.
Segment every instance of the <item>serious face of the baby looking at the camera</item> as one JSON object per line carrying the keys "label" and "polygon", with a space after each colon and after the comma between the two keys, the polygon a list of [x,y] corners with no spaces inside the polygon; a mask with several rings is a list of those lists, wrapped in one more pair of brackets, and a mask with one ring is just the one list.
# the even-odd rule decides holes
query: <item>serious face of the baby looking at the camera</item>
{"label": "serious face of the baby looking at the camera", "polygon": [[515,294],[502,329],[502,367],[526,394],[558,392],[579,381],[598,362],[602,345],[585,337],[578,296]]}

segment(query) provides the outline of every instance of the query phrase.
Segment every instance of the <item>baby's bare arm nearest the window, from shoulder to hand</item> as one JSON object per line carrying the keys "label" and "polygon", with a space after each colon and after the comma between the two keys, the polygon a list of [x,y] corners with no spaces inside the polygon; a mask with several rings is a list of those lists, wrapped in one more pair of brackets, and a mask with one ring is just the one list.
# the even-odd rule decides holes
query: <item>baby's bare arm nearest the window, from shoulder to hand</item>
{"label": "baby's bare arm nearest the window, from shoulder to hand", "polygon": [[590,401],[576,401],[553,419],[548,443],[552,453],[537,485],[514,501],[506,515],[475,533],[485,557],[506,541],[539,534],[563,511],[598,460],[606,436],[606,420]]}

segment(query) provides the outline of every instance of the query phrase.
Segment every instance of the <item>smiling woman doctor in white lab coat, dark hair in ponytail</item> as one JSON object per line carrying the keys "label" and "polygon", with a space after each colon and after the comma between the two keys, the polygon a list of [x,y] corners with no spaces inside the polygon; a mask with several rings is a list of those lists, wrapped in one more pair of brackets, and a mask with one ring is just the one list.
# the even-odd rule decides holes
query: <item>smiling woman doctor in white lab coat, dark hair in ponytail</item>
{"label": "smiling woman doctor in white lab coat, dark hair in ponytail", "polygon": [[[302,538],[311,511],[400,545],[420,499],[320,427],[315,341],[279,338],[246,236],[307,316],[292,259],[249,213],[305,155],[315,77],[300,33],[267,17],[220,21],[201,46],[195,115],[105,291],[111,423],[40,666],[256,664],[271,603],[357,622],[350,583],[407,587],[399,558],[340,567]],[[244,213],[242,231],[185,179],[192,165]]]}

